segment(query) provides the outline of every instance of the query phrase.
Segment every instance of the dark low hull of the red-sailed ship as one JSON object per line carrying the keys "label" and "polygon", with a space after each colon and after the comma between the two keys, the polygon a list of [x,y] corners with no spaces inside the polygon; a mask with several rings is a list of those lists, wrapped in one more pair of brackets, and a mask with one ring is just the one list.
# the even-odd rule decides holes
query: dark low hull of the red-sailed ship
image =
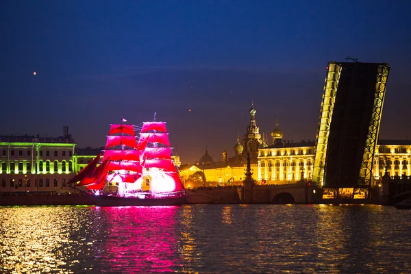
{"label": "dark low hull of the red-sailed ship", "polygon": [[181,206],[186,203],[186,196],[162,198],[162,199],[139,199],[115,196],[95,196],[96,206]]}

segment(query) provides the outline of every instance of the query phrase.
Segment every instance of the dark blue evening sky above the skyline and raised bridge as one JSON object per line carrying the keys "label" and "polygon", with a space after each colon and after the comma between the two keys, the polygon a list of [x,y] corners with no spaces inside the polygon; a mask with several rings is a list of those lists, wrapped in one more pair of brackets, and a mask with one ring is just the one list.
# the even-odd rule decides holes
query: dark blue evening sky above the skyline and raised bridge
{"label": "dark blue evening sky above the skyline and raised bridge", "polygon": [[206,146],[218,160],[254,101],[260,132],[277,117],[284,139],[314,139],[327,62],[349,55],[390,64],[380,138],[411,138],[409,14],[378,0],[1,1],[0,134],[69,125],[101,146],[122,115],[157,112],[182,162]]}

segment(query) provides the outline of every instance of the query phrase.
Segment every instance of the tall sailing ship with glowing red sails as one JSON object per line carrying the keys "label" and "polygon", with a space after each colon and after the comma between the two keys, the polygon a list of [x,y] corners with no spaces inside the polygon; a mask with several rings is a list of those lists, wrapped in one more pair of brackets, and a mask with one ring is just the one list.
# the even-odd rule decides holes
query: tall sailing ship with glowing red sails
{"label": "tall sailing ship with glowing red sails", "polygon": [[142,123],[137,137],[135,126],[125,121],[110,125],[103,153],[67,184],[77,183],[75,188],[94,195],[97,206],[184,203],[186,190],[171,158],[166,123],[155,121],[154,116],[154,121]]}

